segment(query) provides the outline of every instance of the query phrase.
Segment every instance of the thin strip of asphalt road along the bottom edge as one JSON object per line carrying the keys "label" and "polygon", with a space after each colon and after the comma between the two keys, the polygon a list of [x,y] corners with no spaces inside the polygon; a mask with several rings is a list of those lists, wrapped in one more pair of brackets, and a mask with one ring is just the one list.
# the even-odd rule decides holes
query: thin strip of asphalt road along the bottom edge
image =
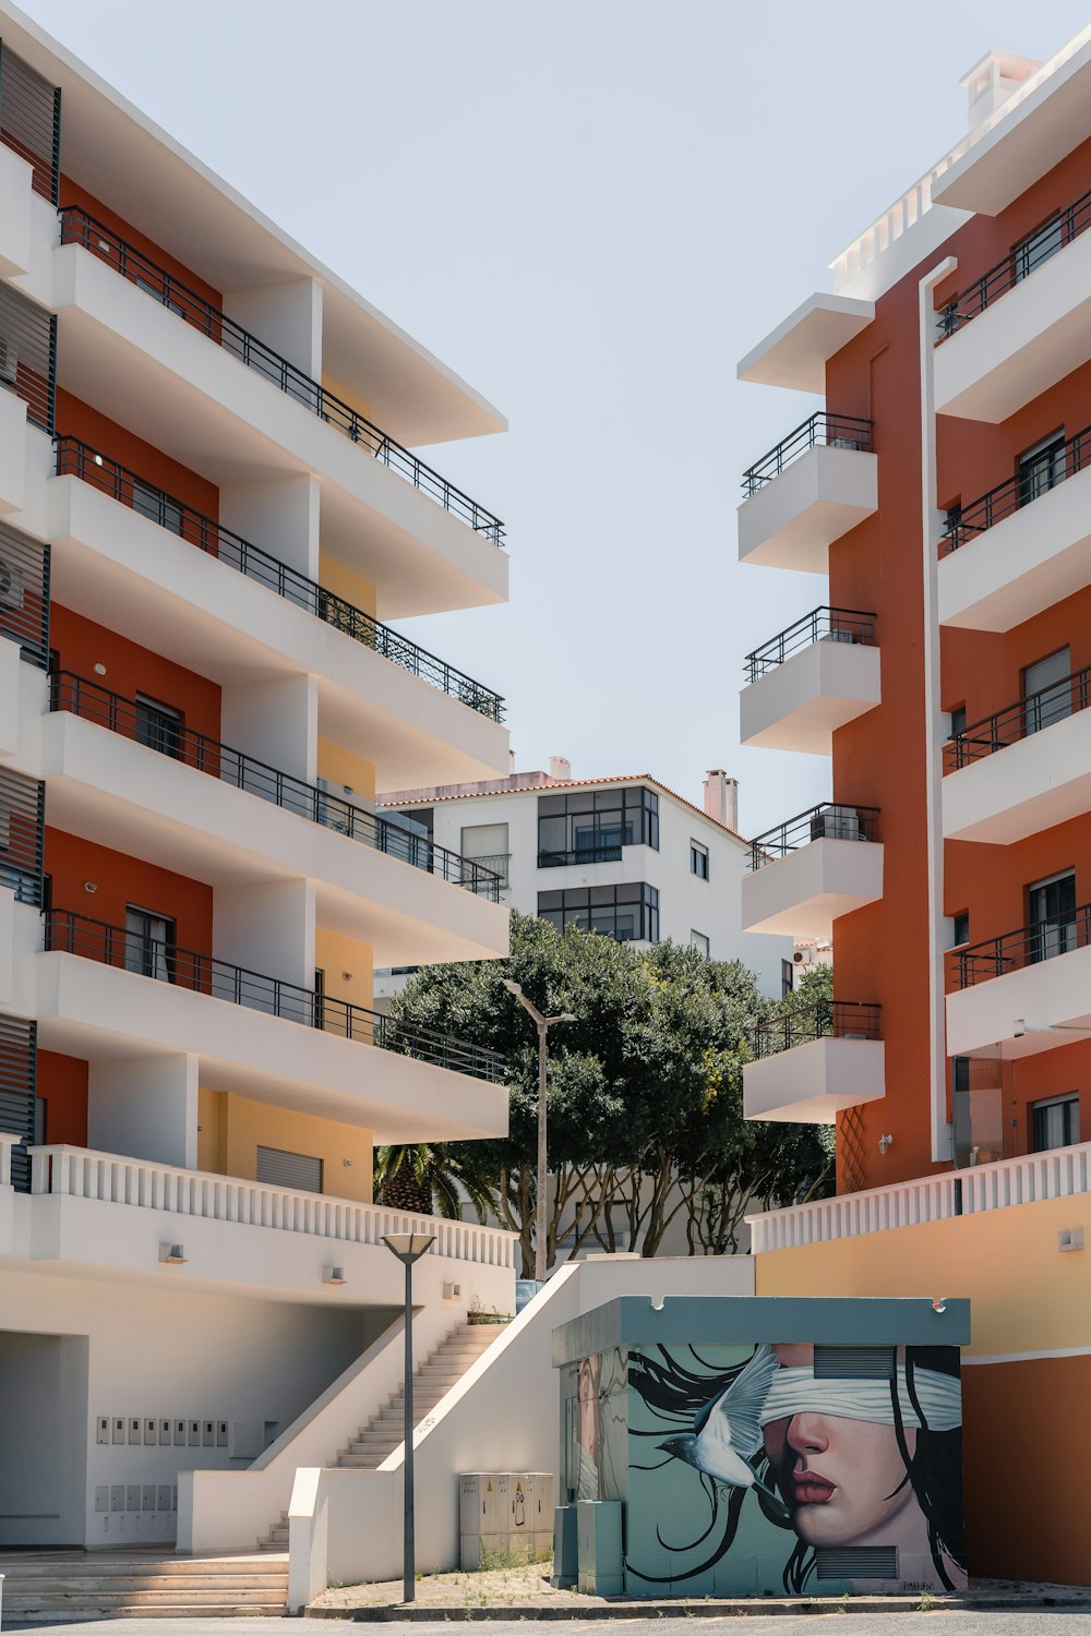
{"label": "thin strip of asphalt road along the bottom edge", "polygon": [[[831,1618],[834,1625],[831,1626]],[[460,1621],[461,1623],[461,1621]],[[612,1618],[612,1620],[481,1620],[474,1621],[483,1636],[608,1636],[618,1629],[618,1636],[726,1636],[728,1628],[738,1629],[736,1620],[723,1618]],[[281,1626],[286,1629],[281,1631]],[[5,1629],[16,1629],[8,1625]],[[330,1625],[322,1620],[95,1620],[83,1625],[34,1625],[21,1626],[34,1629],[39,1636],[56,1631],[57,1636],[72,1636],[83,1631],[85,1636],[286,1636],[288,1628],[294,1628],[294,1636],[332,1636]],[[334,1626],[348,1636],[352,1626]],[[432,1621],[391,1620],[383,1625],[357,1626],[363,1631],[384,1631],[389,1636],[427,1636],[435,1625]],[[754,1615],[754,1636],[837,1636],[852,1631],[857,1636],[1091,1636],[1091,1613],[1066,1611],[1065,1608],[1042,1608],[1032,1613],[854,1613],[842,1625],[831,1613],[790,1613],[790,1615]]]}

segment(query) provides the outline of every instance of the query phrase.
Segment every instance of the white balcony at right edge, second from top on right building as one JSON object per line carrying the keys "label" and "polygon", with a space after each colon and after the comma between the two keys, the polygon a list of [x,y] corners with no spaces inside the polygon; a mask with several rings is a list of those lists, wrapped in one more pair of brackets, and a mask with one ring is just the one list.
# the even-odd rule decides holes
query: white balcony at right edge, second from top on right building
{"label": "white balcony at right edge, second from top on right building", "polygon": [[[1086,237],[1091,242],[1091,234]],[[975,510],[972,507],[967,515]],[[1065,478],[981,533],[972,533],[957,551],[941,556],[939,622],[967,630],[1012,630],[1088,584],[1091,468]]]}

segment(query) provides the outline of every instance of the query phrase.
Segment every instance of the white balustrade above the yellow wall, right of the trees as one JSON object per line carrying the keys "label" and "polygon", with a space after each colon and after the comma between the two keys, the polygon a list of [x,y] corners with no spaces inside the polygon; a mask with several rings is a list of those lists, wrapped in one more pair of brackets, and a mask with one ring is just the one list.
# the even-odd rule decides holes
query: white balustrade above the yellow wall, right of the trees
{"label": "white balustrade above the yellow wall, right of the trees", "polygon": [[751,1255],[1091,1193],[1091,1142],[748,1216]]}

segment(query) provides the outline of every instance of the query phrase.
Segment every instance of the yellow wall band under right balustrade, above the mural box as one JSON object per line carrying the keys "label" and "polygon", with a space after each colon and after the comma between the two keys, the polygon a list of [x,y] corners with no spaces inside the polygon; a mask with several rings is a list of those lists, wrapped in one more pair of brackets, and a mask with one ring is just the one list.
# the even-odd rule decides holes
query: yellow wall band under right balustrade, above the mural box
{"label": "yellow wall band under right balustrade, above the mural box", "polygon": [[[1062,1227],[1089,1248],[1062,1255]],[[770,1250],[759,1296],[968,1296],[968,1355],[1091,1345],[1091,1196],[1016,1204],[918,1227]]]}

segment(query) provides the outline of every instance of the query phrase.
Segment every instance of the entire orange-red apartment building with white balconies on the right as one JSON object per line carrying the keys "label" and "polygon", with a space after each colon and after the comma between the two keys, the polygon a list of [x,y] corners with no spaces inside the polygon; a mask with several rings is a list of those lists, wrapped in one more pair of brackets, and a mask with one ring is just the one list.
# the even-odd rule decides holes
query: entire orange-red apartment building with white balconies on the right
{"label": "entire orange-red apartment building with white balconies on the right", "polygon": [[744,473],[739,558],[829,579],[741,699],[746,743],[831,759],[743,893],[834,936],[744,1099],[836,1121],[839,1196],[754,1224],[757,1291],[972,1296],[970,1572],[1088,1584],[1091,29],[963,85],[967,134],[739,365],[824,399]]}

